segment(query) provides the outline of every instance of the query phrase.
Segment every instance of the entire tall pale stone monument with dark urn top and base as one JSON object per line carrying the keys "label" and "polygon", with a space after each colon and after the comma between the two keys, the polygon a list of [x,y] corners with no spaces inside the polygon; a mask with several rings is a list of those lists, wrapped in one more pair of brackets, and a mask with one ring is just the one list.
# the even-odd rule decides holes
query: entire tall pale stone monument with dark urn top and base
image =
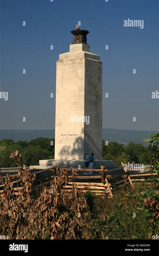
{"label": "entire tall pale stone monument with dark urn top and base", "polygon": [[40,160],[31,168],[85,168],[86,152],[94,153],[94,168],[115,165],[102,160],[102,62],[90,53],[88,30],[71,33],[70,50],[56,64],[55,159]]}

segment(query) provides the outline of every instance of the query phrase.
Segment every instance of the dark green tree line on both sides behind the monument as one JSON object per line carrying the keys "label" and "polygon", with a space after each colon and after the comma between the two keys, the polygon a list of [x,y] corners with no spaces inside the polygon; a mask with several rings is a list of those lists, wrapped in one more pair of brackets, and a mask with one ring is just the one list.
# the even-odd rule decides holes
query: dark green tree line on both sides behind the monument
{"label": "dark green tree line on both sides behind the monument", "polygon": [[[159,161],[159,132],[150,134],[144,141],[150,142],[149,147],[144,147],[142,143],[129,142],[127,146],[111,141],[106,145],[102,140],[102,159],[115,160],[117,165],[121,162],[135,162],[145,165],[155,164]],[[18,150],[25,165],[38,165],[40,159],[54,159],[55,152],[54,138],[35,138],[31,141],[14,142],[12,139],[0,141],[0,167],[14,167],[9,158],[12,151]]]}

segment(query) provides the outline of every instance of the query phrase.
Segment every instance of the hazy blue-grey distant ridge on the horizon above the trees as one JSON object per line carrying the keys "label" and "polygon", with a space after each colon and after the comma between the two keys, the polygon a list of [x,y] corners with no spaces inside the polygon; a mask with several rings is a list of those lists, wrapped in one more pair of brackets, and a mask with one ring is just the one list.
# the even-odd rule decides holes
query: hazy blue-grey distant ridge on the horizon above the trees
{"label": "hazy blue-grey distant ridge on the horizon above the trees", "polygon": [[[143,142],[143,139],[147,138],[150,133],[156,131],[134,131],[134,130],[122,130],[122,129],[109,129],[102,128],[102,138],[108,141],[117,141],[127,145],[129,141],[135,143],[143,143],[144,146],[150,145],[147,142]],[[0,130],[0,140],[13,139],[14,142],[18,140],[31,140],[38,137],[54,138],[55,130]]]}

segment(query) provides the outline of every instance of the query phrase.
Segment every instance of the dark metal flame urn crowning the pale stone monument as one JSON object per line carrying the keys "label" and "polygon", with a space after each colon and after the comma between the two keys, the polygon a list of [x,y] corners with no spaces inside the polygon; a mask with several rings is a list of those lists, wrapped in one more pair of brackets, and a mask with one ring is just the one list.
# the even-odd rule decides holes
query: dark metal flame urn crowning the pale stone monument
{"label": "dark metal flame urn crowning the pale stone monument", "polygon": [[75,29],[75,30],[72,30],[71,33],[73,34],[73,43],[72,44],[77,44],[77,43],[87,44],[87,34],[89,33],[88,30]]}

